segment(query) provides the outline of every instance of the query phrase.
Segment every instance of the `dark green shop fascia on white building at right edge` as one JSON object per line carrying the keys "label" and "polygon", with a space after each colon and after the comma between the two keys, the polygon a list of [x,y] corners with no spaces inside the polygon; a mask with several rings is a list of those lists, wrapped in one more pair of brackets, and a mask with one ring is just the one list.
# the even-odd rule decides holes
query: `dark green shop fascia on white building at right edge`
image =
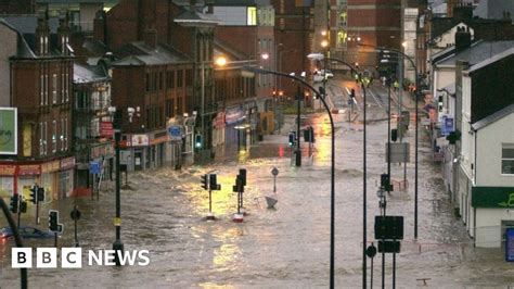
{"label": "dark green shop fascia on white building at right edge", "polygon": [[514,208],[512,187],[473,187],[473,208]]}

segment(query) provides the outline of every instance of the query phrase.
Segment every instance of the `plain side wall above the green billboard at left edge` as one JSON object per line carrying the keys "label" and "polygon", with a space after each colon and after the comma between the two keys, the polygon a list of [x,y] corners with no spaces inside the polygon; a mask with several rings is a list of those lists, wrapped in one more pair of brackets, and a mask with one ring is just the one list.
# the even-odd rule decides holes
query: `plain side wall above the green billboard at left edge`
{"label": "plain side wall above the green billboard at left edge", "polygon": [[16,54],[17,34],[0,24],[0,106],[11,106],[11,64],[9,58]]}

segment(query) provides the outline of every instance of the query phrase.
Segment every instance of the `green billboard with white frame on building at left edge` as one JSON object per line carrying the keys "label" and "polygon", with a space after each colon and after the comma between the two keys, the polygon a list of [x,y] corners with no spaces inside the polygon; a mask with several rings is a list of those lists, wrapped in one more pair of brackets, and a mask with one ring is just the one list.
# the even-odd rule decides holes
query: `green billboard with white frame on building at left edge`
{"label": "green billboard with white frame on building at left edge", "polygon": [[0,155],[17,154],[17,109],[0,108]]}

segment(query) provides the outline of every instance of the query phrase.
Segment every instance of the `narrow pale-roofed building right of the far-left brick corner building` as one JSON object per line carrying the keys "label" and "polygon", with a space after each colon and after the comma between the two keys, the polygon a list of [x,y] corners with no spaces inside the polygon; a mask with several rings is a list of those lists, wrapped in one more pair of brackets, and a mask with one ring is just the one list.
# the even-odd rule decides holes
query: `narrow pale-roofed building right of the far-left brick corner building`
{"label": "narrow pale-roofed building right of the far-left brick corner building", "polygon": [[[105,58],[101,63],[108,61]],[[76,158],[75,187],[77,193],[92,193],[97,179],[112,178],[114,142],[111,106],[111,76],[106,66],[74,64],[74,153]],[[98,163],[99,173],[91,172]]]}

